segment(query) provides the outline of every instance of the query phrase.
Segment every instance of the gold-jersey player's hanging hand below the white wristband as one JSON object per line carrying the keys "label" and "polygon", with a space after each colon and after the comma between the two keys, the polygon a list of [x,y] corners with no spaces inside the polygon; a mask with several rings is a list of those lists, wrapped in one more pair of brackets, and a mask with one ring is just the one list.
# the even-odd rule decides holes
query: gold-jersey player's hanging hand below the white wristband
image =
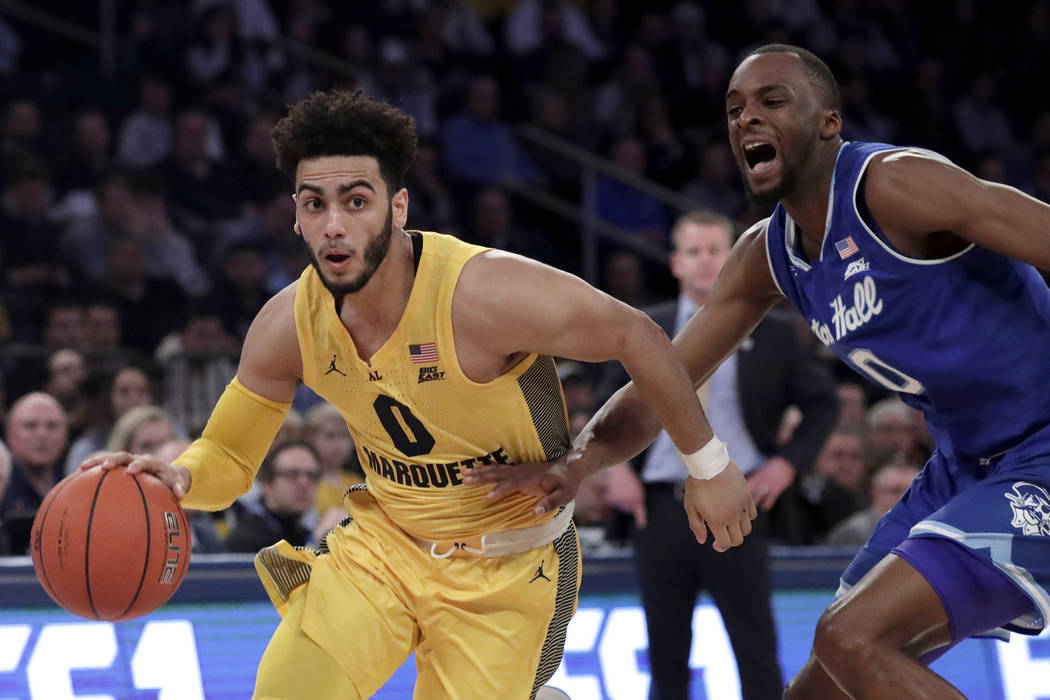
{"label": "gold-jersey player's hanging hand below the white wristband", "polygon": [[732,462],[711,479],[686,480],[684,505],[696,540],[706,543],[710,528],[716,552],[740,545],[758,516],[748,482]]}

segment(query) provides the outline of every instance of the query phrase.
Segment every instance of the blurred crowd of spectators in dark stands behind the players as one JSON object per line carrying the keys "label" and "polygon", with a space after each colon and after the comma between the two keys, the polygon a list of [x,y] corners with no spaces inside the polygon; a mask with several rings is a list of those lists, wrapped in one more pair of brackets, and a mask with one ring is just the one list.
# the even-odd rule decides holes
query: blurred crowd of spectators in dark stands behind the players
{"label": "blurred crowd of spectators in dark stands behind the players", "polygon": [[[411,228],[573,273],[579,226],[510,184],[575,205],[590,197],[602,219],[665,250],[684,212],[611,176],[585,193],[576,163],[528,147],[519,129],[586,149],[742,230],[768,212],[739,184],[723,96],[740,57],[765,43],[827,61],[847,139],[932,148],[1050,200],[1044,1],[35,6],[97,29],[103,4],[116,31],[108,70],[97,48],[0,10],[0,554],[26,551],[42,494],[84,458],[172,459],[198,434],[251,319],[308,264],[270,131],[315,89],[360,88],[416,118]],[[675,294],[666,264],[608,241],[598,254],[594,281],[625,302]],[[785,494],[800,515],[773,528],[781,544],[862,543],[931,448],[919,413],[825,361],[839,381],[839,426]],[[575,429],[606,398],[607,370],[561,363]],[[256,488],[228,511],[194,514],[195,550],[309,544],[338,522],[342,492],[363,479],[353,442],[308,390],[294,406]],[[789,411],[784,440],[793,420]],[[576,517],[592,550],[622,544],[621,502],[603,475],[581,489]]]}

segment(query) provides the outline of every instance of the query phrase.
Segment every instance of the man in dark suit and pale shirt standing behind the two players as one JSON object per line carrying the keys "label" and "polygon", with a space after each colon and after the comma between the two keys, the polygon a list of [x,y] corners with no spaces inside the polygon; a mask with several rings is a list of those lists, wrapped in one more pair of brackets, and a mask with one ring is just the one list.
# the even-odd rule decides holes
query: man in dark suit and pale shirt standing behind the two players
{"label": "man in dark suit and pale shirt standing behind the two players", "polygon": [[[675,224],[672,240],[671,272],[680,295],[647,310],[670,336],[714,288],[733,243],[733,225],[713,212],[692,212]],[[620,387],[626,379],[621,374],[603,384]],[[692,612],[706,589],[733,644],[744,700],[780,698],[783,681],[770,606],[769,511],[811,467],[835,426],[834,380],[800,342],[793,320],[770,314],[704,384],[700,398],[715,434],[728,443],[730,455],[748,476],[759,516],[740,547],[718,553],[698,545],[681,504],[688,471],[664,433],[633,468],[610,471],[611,499],[635,517],[635,560],[649,629],[649,697],[689,697]],[[790,406],[802,419],[780,444],[778,431]]]}

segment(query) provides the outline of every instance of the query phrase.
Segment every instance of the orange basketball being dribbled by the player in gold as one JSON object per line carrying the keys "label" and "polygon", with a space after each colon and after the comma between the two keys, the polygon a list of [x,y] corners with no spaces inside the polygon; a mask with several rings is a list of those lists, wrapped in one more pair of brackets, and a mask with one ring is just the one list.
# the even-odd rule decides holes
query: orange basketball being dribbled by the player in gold
{"label": "orange basketball being dribbled by the player in gold", "polygon": [[77,471],[33,522],[33,566],[70,613],[126,620],[156,610],[186,575],[190,532],[171,490],[124,467]]}

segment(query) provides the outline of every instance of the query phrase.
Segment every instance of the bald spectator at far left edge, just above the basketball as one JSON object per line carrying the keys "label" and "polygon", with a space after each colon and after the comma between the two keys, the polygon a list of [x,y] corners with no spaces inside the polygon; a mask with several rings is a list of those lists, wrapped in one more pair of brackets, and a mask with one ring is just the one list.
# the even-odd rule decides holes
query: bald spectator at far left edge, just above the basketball
{"label": "bald spectator at far left edge, just above the basketball", "polygon": [[15,468],[0,499],[0,521],[15,554],[28,553],[33,518],[62,478],[67,434],[65,411],[47,394],[27,394],[10,407],[6,437]]}

